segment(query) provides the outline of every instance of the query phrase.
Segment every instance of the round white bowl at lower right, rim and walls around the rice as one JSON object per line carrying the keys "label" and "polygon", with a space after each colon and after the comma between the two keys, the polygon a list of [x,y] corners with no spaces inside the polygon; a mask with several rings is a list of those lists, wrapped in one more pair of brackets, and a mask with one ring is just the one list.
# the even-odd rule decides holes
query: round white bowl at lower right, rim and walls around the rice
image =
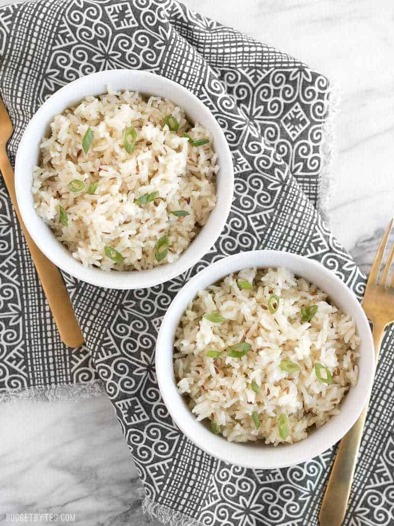
{"label": "round white bowl at lower right, rim and walls around the rice", "polygon": [[[180,395],[173,372],[175,330],[189,301],[199,290],[244,268],[285,267],[327,292],[329,298],[345,313],[353,316],[361,338],[359,378],[340,405],[340,414],[319,429],[310,430],[306,439],[274,447],[264,441],[227,442],[214,435],[196,420]],[[172,301],[161,323],[156,345],[156,374],[161,395],[174,422],[189,439],[214,457],[247,468],[274,469],[293,466],[323,453],[351,428],[368,401],[374,378],[375,354],[369,323],[356,296],[333,272],[318,262],[289,252],[256,250],[216,261],[194,276]]]}

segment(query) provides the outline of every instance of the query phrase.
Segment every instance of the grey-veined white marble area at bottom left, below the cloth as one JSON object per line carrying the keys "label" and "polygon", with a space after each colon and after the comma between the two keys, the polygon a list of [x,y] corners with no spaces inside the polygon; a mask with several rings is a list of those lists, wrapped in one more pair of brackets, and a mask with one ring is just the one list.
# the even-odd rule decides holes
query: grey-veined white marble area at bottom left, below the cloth
{"label": "grey-veined white marble area at bottom left, below the cloth", "polygon": [[[109,399],[3,404],[0,522],[7,513],[72,513],[77,524],[151,524]],[[11,521],[11,523],[17,523]]]}

